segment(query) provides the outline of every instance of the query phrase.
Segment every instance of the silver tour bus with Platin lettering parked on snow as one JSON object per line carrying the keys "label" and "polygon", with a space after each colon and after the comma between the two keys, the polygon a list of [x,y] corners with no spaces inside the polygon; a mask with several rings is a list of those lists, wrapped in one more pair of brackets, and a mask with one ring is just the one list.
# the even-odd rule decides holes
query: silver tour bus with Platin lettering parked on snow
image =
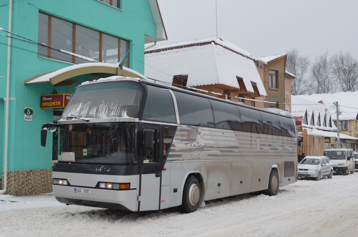
{"label": "silver tour bus with Platin lettering parked on snow", "polygon": [[55,198],[66,204],[150,211],[263,191],[297,180],[290,113],[258,109],[138,78],[76,88],[58,124]]}

